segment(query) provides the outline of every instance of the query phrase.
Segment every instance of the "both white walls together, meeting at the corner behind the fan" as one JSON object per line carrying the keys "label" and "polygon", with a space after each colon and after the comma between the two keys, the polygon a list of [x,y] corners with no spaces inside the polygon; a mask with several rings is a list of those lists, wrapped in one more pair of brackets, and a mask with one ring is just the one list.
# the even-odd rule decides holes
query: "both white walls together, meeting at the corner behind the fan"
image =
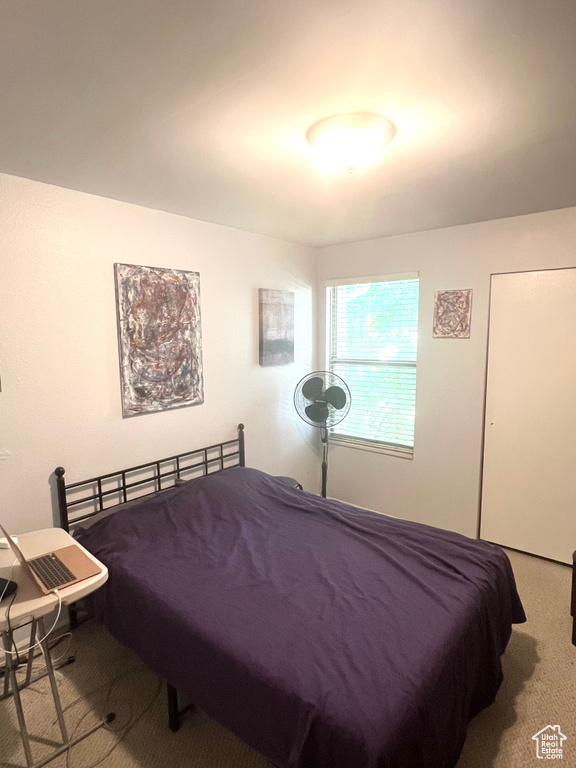
{"label": "both white walls together, meeting at the corner behind the fan", "polygon": [[[203,405],[121,418],[117,261],[200,272]],[[419,271],[414,458],[332,446],[329,493],[474,536],[490,274],[575,265],[576,208],[316,251],[0,175],[0,521],[51,525],[59,464],[84,479],[233,437],[238,421],[249,465],[317,491],[317,433],[292,392],[324,367],[324,280]],[[295,291],[293,365],[258,365],[260,287]],[[434,291],[449,288],[474,289],[469,340],[432,339]]]}

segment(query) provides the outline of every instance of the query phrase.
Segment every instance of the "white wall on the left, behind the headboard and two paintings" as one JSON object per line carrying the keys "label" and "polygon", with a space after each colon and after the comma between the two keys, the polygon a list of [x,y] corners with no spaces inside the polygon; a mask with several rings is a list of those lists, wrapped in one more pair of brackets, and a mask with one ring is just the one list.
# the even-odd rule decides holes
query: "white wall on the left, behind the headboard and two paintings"
{"label": "white wall on the left, behind the headboard and two paintings", "polygon": [[[205,402],[122,419],[114,262],[200,272]],[[247,463],[318,487],[292,393],[312,368],[316,252],[0,175],[0,521],[50,526],[68,482],[233,438]],[[293,365],[258,365],[258,288],[295,292]],[[9,454],[9,455],[7,455]]]}

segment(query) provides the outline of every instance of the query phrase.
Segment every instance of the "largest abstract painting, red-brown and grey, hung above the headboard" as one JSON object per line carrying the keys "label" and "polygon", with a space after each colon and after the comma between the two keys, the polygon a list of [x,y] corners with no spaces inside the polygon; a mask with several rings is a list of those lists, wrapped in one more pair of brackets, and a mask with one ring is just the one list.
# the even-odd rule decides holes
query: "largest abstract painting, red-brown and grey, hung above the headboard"
{"label": "largest abstract painting, red-brown and grey, hung above the headboard", "polygon": [[123,417],[204,402],[199,273],[114,270]]}

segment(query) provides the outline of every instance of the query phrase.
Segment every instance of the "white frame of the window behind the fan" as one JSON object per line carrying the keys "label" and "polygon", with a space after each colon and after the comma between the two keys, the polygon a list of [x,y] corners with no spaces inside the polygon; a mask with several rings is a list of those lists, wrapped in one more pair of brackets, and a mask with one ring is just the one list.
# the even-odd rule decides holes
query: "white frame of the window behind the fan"
{"label": "white frame of the window behind the fan", "polygon": [[[392,367],[394,365],[402,365],[402,367],[413,367],[417,371],[418,360],[415,361],[393,361],[386,360],[379,363],[374,360],[361,360],[355,358],[353,360],[343,360],[340,358],[334,358],[332,354],[332,323],[333,323],[333,306],[332,306],[332,292],[331,288],[340,285],[360,285],[363,283],[384,283],[392,282],[394,280],[419,280],[420,275],[418,272],[405,272],[394,275],[377,275],[369,277],[350,277],[350,278],[337,278],[333,280],[326,280],[325,282],[325,294],[326,294],[326,370],[332,371],[332,364],[348,363],[358,365],[382,365],[383,367]],[[345,428],[345,423],[343,423]],[[415,441],[415,440],[414,440]],[[385,453],[391,456],[397,456],[404,459],[412,459],[414,456],[414,445],[408,447],[403,445],[396,445],[393,443],[384,443],[374,440],[363,440],[358,437],[350,437],[347,435],[334,434],[330,432],[330,443],[345,445],[350,448],[359,448],[366,451],[375,451],[377,453]]]}

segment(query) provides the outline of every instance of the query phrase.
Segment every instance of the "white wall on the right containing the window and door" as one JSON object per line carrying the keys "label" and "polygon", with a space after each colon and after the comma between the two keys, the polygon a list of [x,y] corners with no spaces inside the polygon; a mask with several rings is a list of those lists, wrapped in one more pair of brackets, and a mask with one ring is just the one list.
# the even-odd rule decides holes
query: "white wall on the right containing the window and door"
{"label": "white wall on the right containing the window and door", "polygon": [[[414,458],[334,445],[330,495],[475,536],[490,275],[575,265],[576,208],[322,249],[321,361],[326,279],[420,273]],[[433,339],[434,292],[454,288],[474,290],[471,338]]]}

